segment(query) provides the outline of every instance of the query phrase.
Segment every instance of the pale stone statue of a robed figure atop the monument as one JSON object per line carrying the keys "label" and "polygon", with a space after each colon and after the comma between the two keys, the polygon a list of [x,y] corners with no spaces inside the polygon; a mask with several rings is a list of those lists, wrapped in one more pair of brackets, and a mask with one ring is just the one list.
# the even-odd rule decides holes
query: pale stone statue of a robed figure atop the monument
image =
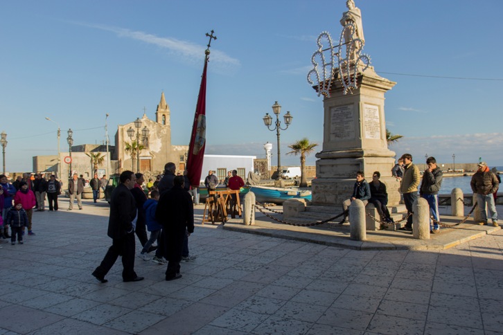
{"label": "pale stone statue of a robed figure atop the monument", "polygon": [[[346,44],[346,56],[350,62],[356,62],[358,59],[358,50],[365,45],[363,35],[362,12],[355,6],[355,1],[347,0],[347,12],[342,14],[340,20],[343,28],[344,43]],[[341,41],[342,42],[342,41]]]}

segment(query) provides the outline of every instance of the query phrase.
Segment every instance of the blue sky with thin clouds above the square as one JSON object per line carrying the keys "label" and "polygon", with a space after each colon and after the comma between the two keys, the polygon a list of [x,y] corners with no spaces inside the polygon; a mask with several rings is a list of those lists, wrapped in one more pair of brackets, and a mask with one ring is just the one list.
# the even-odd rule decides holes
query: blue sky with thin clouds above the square
{"label": "blue sky with thin clouds above the square", "polygon": [[[459,163],[503,165],[503,1],[355,3],[364,53],[397,82],[385,120],[404,138],[390,149],[420,163],[425,154],[451,163],[455,154]],[[293,116],[281,131],[281,163],[299,165],[288,145],[306,137],[323,148],[323,100],[306,80],[311,55],[321,32],[338,41],[346,10],[345,0],[0,1],[6,170],[31,171],[33,156],[57,154],[58,126],[62,152],[69,128],[74,145],[104,143],[106,114],[114,145],[117,126],[144,108],[155,119],[163,91],[172,143],[188,145],[211,30],[206,154],[265,158],[270,142],[276,165],[276,132],[263,117],[278,101],[281,119]]]}

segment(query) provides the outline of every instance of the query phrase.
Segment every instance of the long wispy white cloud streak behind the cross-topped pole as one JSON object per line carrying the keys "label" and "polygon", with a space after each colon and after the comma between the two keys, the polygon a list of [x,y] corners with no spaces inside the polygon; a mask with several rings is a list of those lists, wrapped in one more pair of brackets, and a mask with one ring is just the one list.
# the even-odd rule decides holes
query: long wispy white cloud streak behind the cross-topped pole
{"label": "long wispy white cloud streak behind the cross-topped pole", "polygon": [[[158,37],[149,33],[144,33],[142,31],[134,31],[127,28],[117,28],[113,26],[106,26],[103,24],[80,24],[81,26],[87,26],[90,28],[96,28],[100,30],[109,31],[115,33],[118,37],[125,37],[130,39],[135,39],[137,41],[145,42],[148,44],[154,44],[161,48],[166,48],[173,55],[182,57],[184,60],[189,62],[200,62],[206,46],[199,44],[194,44],[192,42],[182,41],[175,39],[174,37]],[[212,64],[218,71],[236,71],[240,67],[240,61],[236,58],[230,57],[222,51],[218,51],[211,48],[210,59]]]}

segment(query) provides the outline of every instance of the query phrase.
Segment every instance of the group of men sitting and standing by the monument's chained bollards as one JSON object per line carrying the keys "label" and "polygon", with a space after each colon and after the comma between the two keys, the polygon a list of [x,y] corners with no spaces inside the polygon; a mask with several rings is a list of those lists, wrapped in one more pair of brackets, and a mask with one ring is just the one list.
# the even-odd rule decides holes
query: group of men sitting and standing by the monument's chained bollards
{"label": "group of men sitting and standing by the monument's chained bollards", "polygon": [[[398,163],[391,169],[392,176],[400,181],[400,193],[403,195],[405,208],[407,208],[407,223],[400,230],[412,231],[412,206],[417,197],[422,197],[430,206],[430,233],[436,234],[440,232],[439,190],[442,184],[443,173],[441,168],[436,164],[434,157],[428,157],[426,165],[427,168],[421,177],[419,168],[412,163],[412,155],[403,154],[398,159]],[[353,194],[351,194],[350,199],[346,199],[342,203],[342,208],[344,209],[343,222],[348,221],[348,208],[355,199],[363,201],[365,206],[367,206],[367,203],[373,203],[376,210],[378,210],[382,222],[393,222],[387,209],[388,197],[386,185],[381,183],[379,179],[380,172],[378,171],[373,172],[371,183],[365,180],[363,172],[358,171],[356,173]],[[482,217],[482,220],[479,222],[480,225],[488,224],[487,206],[491,223],[493,226],[498,226],[495,199],[499,184],[500,177],[497,173],[489,170],[485,162],[480,162],[477,165],[477,172],[473,174],[470,182],[473,193],[476,194],[477,206]]]}

